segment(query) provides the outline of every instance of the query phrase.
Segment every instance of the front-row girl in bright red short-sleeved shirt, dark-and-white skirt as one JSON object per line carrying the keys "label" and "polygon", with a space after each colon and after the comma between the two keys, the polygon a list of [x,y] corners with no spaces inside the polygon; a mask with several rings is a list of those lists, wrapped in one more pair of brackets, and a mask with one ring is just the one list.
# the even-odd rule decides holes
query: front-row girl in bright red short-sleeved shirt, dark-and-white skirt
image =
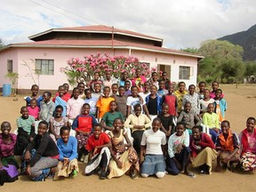
{"label": "front-row girl in bright red short-sleeved shirt, dark-and-white skirt", "polygon": [[89,138],[86,150],[89,151],[89,162],[85,167],[84,174],[89,176],[100,168],[100,180],[107,178],[108,164],[110,160],[111,140],[106,132],[102,132],[101,124],[94,124],[93,135]]}

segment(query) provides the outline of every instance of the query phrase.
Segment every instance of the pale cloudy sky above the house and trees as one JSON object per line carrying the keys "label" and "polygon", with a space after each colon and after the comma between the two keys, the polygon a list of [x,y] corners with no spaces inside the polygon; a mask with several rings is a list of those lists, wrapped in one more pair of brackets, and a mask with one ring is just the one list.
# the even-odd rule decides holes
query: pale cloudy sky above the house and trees
{"label": "pale cloudy sky above the house and trees", "polygon": [[1,0],[0,12],[4,44],[28,42],[50,28],[102,24],[157,36],[180,49],[256,24],[255,0]]}

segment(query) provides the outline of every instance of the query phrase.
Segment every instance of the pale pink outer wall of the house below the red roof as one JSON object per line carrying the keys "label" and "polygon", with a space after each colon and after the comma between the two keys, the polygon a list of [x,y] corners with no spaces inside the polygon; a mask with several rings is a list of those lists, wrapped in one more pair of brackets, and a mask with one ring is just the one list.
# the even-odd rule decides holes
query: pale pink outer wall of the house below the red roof
{"label": "pale pink outer wall of the house below the red roof", "polygon": [[[67,60],[72,57],[80,59],[84,55],[95,53],[108,53],[110,56],[129,55],[129,50],[113,49],[54,49],[54,48],[12,48],[0,52],[0,86],[10,84],[10,81],[4,78],[7,74],[7,60],[13,60],[13,72],[19,73],[18,84],[15,88],[19,90],[29,90],[32,84],[38,84],[41,90],[57,90],[60,84],[68,82],[67,76],[60,72],[60,68],[67,66]],[[171,66],[171,80],[174,82],[184,81],[187,86],[196,84],[197,59],[159,52],[142,52],[131,50],[131,55],[138,57],[141,62],[150,63],[150,67],[157,68],[157,65]],[[40,75],[39,78],[34,73],[35,64],[32,60],[45,59],[54,60],[54,76]],[[28,66],[24,64],[27,63]],[[179,67],[188,66],[191,68],[189,80],[179,79]],[[70,88],[71,89],[71,88]]]}

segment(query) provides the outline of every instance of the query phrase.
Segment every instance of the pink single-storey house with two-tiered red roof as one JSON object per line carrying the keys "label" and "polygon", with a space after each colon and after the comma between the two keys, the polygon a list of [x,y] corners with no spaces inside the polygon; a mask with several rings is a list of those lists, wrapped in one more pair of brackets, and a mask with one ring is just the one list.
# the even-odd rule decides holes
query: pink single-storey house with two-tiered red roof
{"label": "pink single-storey house with two-tiered red roof", "polygon": [[32,84],[41,90],[56,90],[67,82],[60,68],[72,57],[92,53],[133,56],[150,67],[166,71],[174,82],[196,84],[197,62],[203,57],[163,47],[163,39],[107,26],[52,28],[34,36],[33,42],[9,44],[0,50],[0,86],[11,84],[4,76],[17,72],[14,88],[28,91]]}

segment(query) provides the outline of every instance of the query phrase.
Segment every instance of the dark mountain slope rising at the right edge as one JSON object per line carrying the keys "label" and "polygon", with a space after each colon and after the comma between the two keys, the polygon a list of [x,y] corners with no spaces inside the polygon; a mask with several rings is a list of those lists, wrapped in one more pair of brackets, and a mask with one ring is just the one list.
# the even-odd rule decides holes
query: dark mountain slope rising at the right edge
{"label": "dark mountain slope rising at the right edge", "polygon": [[227,40],[232,44],[238,44],[244,48],[244,60],[256,60],[256,25],[246,31],[233,35],[223,36],[218,40]]}

